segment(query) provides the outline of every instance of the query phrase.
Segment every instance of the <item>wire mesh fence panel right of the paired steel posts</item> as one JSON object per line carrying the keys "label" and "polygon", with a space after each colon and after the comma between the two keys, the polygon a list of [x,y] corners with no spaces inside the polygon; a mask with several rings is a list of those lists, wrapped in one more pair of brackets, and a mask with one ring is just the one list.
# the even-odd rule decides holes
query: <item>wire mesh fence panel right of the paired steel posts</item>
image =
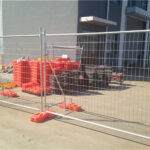
{"label": "wire mesh fence panel right of the paired steel posts", "polygon": [[46,56],[53,58],[47,108],[150,139],[149,35],[47,34]]}

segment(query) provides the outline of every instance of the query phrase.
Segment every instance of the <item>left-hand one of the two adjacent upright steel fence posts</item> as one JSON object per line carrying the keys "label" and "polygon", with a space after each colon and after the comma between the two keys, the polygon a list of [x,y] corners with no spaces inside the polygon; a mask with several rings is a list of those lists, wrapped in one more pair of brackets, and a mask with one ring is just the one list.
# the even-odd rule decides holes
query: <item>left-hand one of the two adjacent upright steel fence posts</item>
{"label": "left-hand one of the two adjacent upright steel fence posts", "polygon": [[41,48],[41,77],[40,77],[40,82],[41,82],[41,111],[43,111],[43,65],[42,65],[42,58],[43,58],[43,29],[42,27],[40,28],[40,48]]}

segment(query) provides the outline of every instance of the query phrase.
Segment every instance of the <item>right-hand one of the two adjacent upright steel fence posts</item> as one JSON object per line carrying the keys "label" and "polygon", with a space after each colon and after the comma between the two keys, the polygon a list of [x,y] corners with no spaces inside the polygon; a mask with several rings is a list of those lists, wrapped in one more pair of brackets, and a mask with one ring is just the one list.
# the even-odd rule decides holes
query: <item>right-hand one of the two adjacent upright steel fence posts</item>
{"label": "right-hand one of the two adjacent upright steel fence posts", "polygon": [[47,49],[47,42],[46,42],[46,30],[44,29],[44,109],[46,110],[46,49]]}

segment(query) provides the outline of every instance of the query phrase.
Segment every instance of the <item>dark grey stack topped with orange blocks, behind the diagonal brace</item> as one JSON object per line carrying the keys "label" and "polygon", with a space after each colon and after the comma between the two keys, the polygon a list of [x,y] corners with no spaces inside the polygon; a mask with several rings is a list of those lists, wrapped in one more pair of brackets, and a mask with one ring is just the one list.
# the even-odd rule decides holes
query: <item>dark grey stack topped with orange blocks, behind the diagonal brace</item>
{"label": "dark grey stack topped with orange blocks, behind the diagonal brace", "polygon": [[58,58],[55,61],[54,68],[55,74],[51,74],[50,76],[52,93],[75,94],[78,91],[78,62],[71,62],[70,59]]}

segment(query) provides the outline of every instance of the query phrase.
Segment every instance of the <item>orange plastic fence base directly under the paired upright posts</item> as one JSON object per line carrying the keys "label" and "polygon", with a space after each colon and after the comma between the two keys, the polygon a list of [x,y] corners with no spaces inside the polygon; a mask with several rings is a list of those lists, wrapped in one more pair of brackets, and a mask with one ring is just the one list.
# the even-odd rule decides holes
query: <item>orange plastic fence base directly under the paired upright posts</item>
{"label": "orange plastic fence base directly under the paired upright posts", "polygon": [[[55,112],[53,110],[48,110],[48,111]],[[48,112],[45,112],[45,111],[41,111],[41,112],[38,112],[38,113],[32,115],[30,117],[30,121],[39,123],[39,122],[43,122],[47,118],[53,118],[53,117],[55,117],[54,114],[51,114],[51,113],[48,113]]]}

